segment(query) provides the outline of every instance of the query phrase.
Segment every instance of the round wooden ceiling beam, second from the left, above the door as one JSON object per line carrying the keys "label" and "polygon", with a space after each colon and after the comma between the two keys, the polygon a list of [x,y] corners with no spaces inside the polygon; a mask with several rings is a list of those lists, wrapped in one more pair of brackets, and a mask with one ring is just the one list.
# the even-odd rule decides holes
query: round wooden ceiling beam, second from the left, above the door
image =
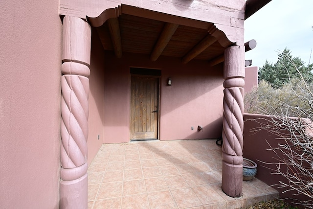
{"label": "round wooden ceiling beam, second from the left, above the door", "polygon": [[156,61],[157,58],[161,55],[162,51],[171,40],[178,26],[179,24],[175,24],[175,23],[165,24],[163,31],[156,42],[156,46],[153,48],[152,53],[150,55],[150,59],[152,61]]}

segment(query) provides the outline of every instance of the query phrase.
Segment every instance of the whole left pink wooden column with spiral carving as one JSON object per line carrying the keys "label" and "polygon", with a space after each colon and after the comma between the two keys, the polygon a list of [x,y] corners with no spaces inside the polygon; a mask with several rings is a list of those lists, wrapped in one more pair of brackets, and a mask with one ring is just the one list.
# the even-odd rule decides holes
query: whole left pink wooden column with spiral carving
{"label": "whole left pink wooden column with spiral carving", "polygon": [[60,208],[88,207],[87,139],[91,28],[80,18],[63,20],[61,77]]}

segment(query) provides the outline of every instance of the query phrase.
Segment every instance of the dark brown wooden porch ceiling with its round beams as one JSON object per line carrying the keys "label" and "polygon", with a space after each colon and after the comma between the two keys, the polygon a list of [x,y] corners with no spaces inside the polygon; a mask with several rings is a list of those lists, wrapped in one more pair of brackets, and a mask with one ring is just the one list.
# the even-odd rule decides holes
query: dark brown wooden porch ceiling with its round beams
{"label": "dark brown wooden porch ceiling with its round beams", "polygon": [[183,63],[192,59],[221,60],[225,47],[208,30],[129,14],[97,27],[103,48],[114,51],[117,57],[129,52],[149,54],[153,61],[160,55],[179,57]]}

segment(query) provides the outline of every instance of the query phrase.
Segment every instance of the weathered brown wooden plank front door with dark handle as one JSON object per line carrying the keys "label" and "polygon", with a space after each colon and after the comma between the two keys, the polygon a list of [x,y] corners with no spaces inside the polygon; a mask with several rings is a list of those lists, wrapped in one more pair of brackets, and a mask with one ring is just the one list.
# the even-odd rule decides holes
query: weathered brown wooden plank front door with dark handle
{"label": "weathered brown wooden plank front door with dark handle", "polygon": [[131,78],[131,139],[157,139],[158,78]]}

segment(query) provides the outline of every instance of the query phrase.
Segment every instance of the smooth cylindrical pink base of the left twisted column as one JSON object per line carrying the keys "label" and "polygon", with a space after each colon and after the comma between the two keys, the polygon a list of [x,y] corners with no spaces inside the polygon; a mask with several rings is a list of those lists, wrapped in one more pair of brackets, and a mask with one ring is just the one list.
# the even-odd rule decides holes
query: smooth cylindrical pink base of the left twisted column
{"label": "smooth cylindrical pink base of the left twisted column", "polygon": [[88,174],[73,181],[60,182],[60,209],[88,208]]}

